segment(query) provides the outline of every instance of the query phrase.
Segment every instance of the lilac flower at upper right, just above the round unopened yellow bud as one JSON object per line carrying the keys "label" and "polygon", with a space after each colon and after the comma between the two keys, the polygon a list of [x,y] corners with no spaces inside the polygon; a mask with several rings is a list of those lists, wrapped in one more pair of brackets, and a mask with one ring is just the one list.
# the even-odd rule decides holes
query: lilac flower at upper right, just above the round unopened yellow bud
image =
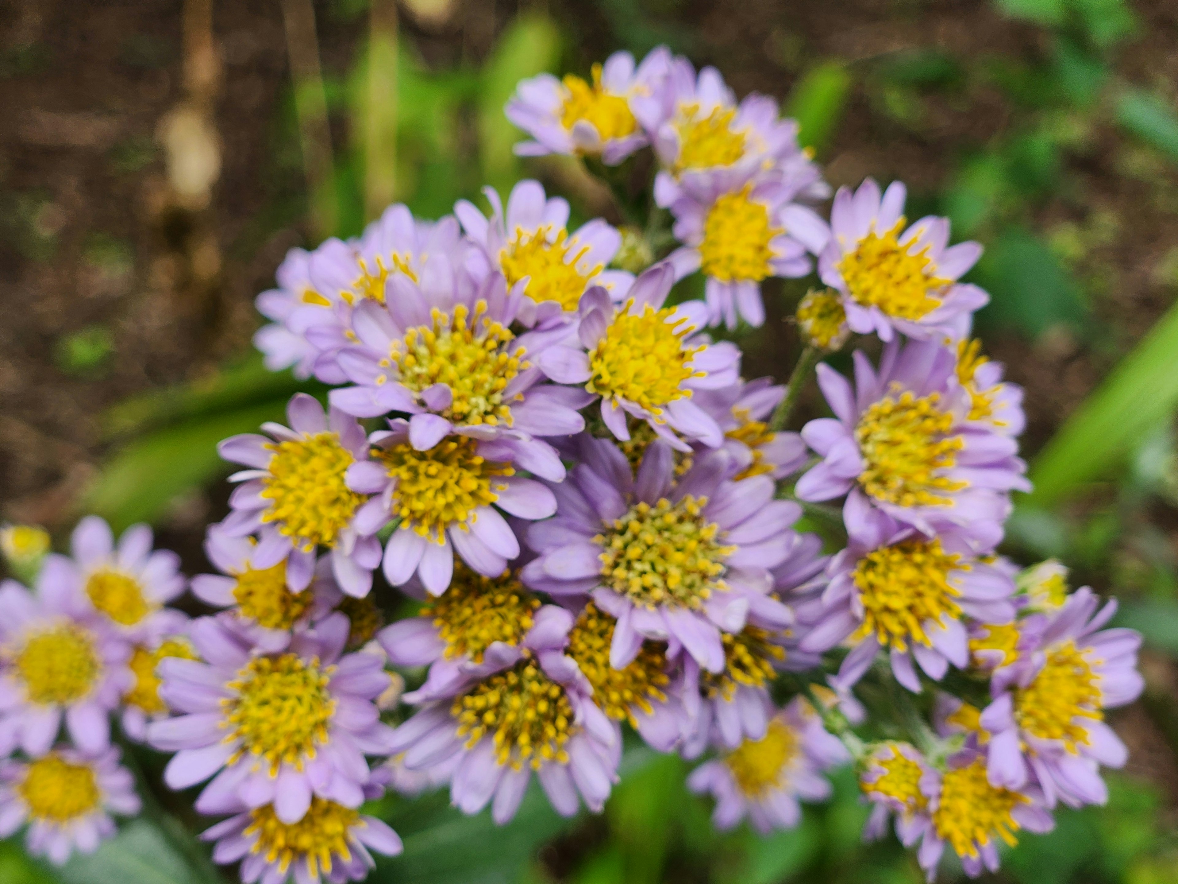
{"label": "lilac flower at upper right, just above the round unopened yellow bud", "polygon": [[884,196],[868,178],[854,193],[840,187],[830,207],[830,239],[819,276],[842,292],[847,324],[891,341],[959,337],[962,323],[990,296],[958,279],[981,256],[978,243],[949,246],[948,218],[926,217],[906,229],[906,190],[893,182]]}

